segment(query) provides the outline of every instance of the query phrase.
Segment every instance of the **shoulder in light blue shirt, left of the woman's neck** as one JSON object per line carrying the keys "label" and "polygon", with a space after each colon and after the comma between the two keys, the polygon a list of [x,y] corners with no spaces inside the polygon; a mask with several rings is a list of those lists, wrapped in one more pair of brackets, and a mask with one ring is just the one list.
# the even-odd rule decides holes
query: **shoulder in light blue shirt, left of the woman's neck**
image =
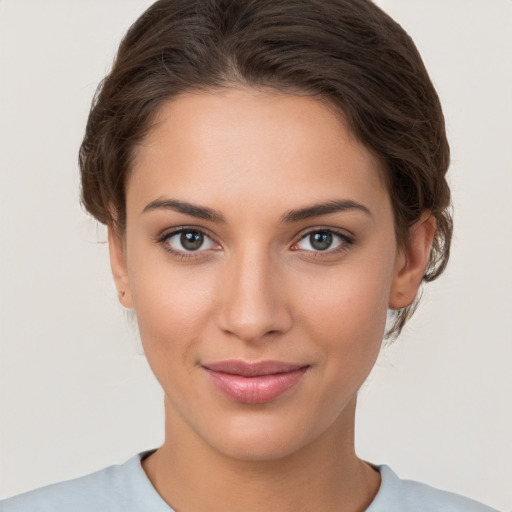
{"label": "shoulder in light blue shirt, left of the woman's neck", "polygon": [[0,512],[172,512],[145,476],[140,465],[143,455],[87,476],[2,500]]}

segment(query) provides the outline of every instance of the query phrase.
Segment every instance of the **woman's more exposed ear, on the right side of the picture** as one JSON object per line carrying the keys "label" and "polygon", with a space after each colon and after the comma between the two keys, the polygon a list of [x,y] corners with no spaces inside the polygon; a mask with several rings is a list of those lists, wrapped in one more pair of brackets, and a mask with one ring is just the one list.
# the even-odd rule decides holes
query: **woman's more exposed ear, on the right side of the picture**
{"label": "woman's more exposed ear, on the right side of the picture", "polygon": [[427,266],[436,219],[424,213],[409,230],[407,246],[400,249],[395,262],[388,306],[401,309],[409,306],[420,287]]}

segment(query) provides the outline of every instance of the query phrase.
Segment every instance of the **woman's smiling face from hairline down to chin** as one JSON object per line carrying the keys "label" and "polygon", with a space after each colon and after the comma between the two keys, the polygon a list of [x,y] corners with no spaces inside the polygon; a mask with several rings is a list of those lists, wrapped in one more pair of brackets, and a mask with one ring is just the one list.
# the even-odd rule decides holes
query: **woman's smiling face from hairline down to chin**
{"label": "woman's smiling face from hairline down to chin", "polygon": [[407,269],[382,172],[312,98],[231,89],[161,109],[124,251],[110,243],[180,435],[261,460],[352,434]]}

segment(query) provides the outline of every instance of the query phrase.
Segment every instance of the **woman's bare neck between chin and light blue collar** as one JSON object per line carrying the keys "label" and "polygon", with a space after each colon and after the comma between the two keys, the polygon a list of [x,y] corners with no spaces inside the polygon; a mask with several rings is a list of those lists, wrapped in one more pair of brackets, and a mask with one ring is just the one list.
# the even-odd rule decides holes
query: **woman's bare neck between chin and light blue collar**
{"label": "woman's bare neck between chin and light blue collar", "polygon": [[380,476],[354,451],[355,400],[346,409],[321,438],[299,451],[254,461],[207,445],[181,428],[166,404],[166,440],[143,467],[162,498],[179,511],[362,511],[377,493]]}

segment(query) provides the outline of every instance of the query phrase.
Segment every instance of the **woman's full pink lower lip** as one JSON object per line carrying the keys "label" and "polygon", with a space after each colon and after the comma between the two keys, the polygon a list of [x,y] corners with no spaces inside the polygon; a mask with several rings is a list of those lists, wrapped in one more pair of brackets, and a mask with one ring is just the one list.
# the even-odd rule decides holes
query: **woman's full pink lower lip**
{"label": "woman's full pink lower lip", "polygon": [[307,367],[286,373],[243,377],[205,368],[214,386],[226,397],[244,404],[264,404],[298,384]]}

